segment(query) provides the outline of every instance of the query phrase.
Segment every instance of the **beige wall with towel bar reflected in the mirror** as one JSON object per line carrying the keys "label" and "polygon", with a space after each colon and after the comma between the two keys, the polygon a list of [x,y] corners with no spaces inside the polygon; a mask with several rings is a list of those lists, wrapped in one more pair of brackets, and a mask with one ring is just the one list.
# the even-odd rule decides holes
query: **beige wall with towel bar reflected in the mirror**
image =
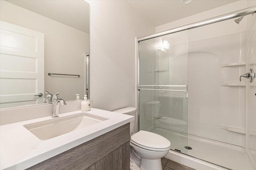
{"label": "beige wall with towel bar reflected in the mirror", "polygon": [[[60,92],[60,98],[74,100],[84,94],[84,56],[89,52],[89,35],[14,4],[1,0],[0,20],[44,33],[45,90]],[[53,77],[48,72],[80,74],[80,78]],[[42,92],[44,93],[44,92]]]}

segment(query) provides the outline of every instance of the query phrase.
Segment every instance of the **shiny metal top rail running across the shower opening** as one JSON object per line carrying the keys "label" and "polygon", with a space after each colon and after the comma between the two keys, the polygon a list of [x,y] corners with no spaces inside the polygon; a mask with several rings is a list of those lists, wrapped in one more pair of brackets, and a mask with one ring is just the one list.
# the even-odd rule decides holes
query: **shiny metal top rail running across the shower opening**
{"label": "shiny metal top rail running across the shower opening", "polygon": [[249,15],[249,14],[253,14],[255,12],[256,12],[256,6],[252,6],[252,7],[249,7],[249,8],[244,8],[242,10],[230,12],[228,14],[224,14],[224,15],[216,16],[216,17],[209,18],[209,19],[206,19],[206,20],[190,23],[190,24],[187,24],[187,25],[183,25],[183,26],[180,26],[180,27],[176,27],[176,28],[169,29],[169,30],[166,30],[166,31],[162,31],[162,32],[159,32],[159,33],[155,33],[155,34],[152,34],[152,35],[147,35],[145,37],[140,37],[140,38],[137,38],[137,41],[138,42],[139,41],[144,41],[144,40],[147,40],[147,39],[160,37],[162,35],[167,35],[167,34],[170,34],[170,33],[176,33],[176,32],[179,32],[179,31],[184,31],[186,29],[192,29],[192,28],[201,27],[201,26],[204,26],[204,25],[209,25],[209,24],[212,24],[212,23],[220,22],[220,21],[229,20],[229,19],[232,19],[232,18],[237,18],[237,17],[240,17],[240,16],[246,16],[246,15]]}

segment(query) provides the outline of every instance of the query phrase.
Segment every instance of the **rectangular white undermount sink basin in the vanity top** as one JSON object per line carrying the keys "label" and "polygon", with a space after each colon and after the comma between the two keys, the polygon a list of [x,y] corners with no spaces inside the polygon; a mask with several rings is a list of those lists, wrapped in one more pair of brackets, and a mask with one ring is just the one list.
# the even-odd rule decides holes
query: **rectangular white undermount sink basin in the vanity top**
{"label": "rectangular white undermount sink basin in the vanity top", "polygon": [[44,141],[105,120],[107,120],[105,117],[96,117],[88,113],[78,113],[27,124],[24,127],[40,140]]}

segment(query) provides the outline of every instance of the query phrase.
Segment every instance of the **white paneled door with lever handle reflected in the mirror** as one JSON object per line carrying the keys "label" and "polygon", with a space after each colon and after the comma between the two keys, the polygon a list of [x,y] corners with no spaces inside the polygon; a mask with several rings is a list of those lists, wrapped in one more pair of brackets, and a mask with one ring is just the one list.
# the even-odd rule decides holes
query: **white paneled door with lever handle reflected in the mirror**
{"label": "white paneled door with lever handle reflected in the mirror", "polygon": [[42,103],[44,33],[0,21],[0,108]]}

